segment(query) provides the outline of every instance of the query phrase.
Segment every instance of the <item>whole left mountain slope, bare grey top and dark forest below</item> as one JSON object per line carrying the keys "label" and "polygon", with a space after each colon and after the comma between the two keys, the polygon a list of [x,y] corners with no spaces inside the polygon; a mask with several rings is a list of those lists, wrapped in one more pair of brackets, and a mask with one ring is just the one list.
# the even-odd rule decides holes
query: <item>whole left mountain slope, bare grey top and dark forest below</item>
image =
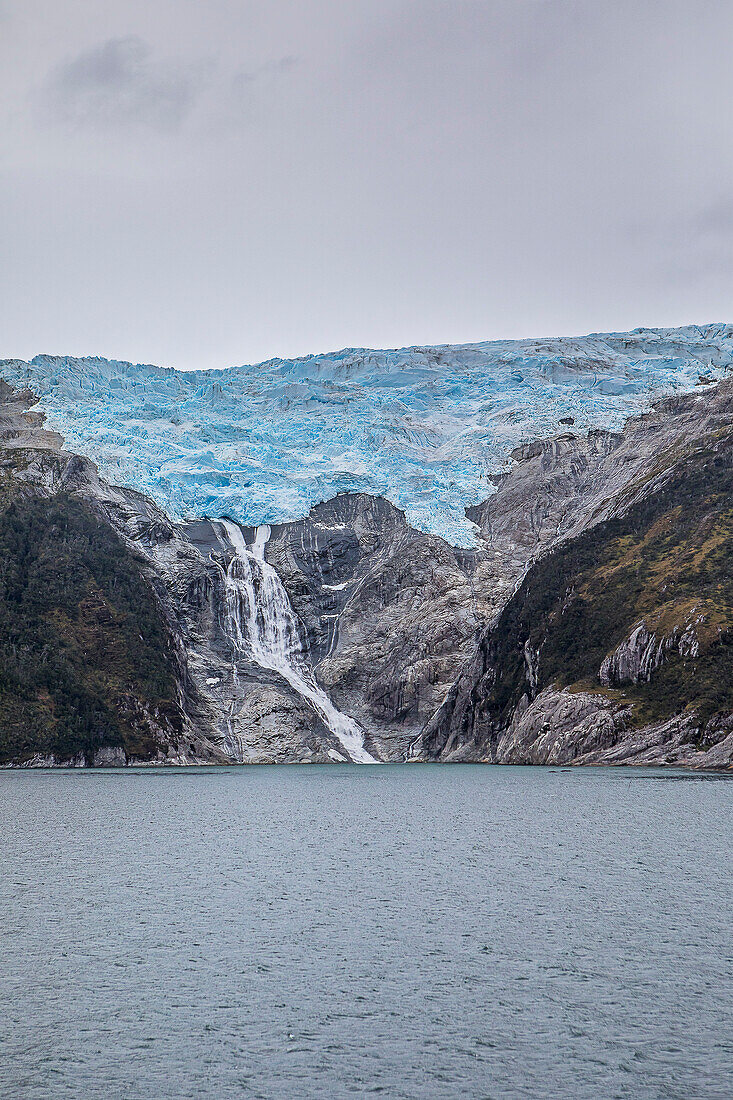
{"label": "whole left mountain slope, bare grey top and dark forest below", "polygon": [[0,381],[0,762],[225,760],[187,714],[160,578],[110,514],[138,535],[165,517],[62,450],[34,403]]}

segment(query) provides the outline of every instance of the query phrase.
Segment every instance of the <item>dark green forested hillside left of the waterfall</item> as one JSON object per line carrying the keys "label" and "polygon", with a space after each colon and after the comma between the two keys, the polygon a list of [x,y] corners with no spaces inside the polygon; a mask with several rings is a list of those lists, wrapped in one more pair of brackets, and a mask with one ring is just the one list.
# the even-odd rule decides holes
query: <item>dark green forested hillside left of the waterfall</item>
{"label": "dark green forested hillside left of the waterfall", "polygon": [[[0,762],[155,757],[182,728],[149,581],[85,503],[0,486]],[[102,750],[100,752],[100,750]]]}

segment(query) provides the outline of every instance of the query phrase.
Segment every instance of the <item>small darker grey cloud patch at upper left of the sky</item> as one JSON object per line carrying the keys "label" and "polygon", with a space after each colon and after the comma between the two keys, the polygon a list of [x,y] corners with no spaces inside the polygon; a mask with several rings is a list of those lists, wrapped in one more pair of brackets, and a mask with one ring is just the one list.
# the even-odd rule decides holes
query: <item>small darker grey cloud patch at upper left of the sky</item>
{"label": "small darker grey cloud patch at upper left of the sky", "polygon": [[194,106],[199,74],[157,62],[136,35],[109,38],[58,66],[42,91],[54,121],[175,129]]}

